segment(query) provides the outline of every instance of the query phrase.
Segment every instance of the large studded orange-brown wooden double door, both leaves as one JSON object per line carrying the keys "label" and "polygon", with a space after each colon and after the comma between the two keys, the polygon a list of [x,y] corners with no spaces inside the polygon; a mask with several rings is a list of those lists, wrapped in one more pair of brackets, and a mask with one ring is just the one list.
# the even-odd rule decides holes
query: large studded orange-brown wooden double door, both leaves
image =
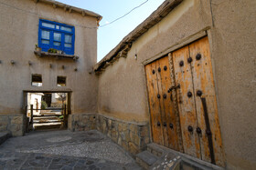
{"label": "large studded orange-brown wooden double door, both leaves", "polygon": [[208,37],[145,65],[153,141],[223,166]]}

